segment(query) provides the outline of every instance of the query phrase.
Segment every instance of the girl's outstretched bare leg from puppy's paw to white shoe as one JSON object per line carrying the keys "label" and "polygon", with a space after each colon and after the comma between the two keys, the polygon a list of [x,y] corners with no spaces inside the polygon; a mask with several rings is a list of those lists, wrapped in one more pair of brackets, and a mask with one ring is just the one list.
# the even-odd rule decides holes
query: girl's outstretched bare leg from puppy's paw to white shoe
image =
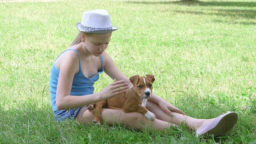
{"label": "girl's outstretched bare leg from puppy's paw to white shoe", "polygon": [[180,114],[177,112],[172,112],[173,116],[168,115],[166,112],[164,112],[160,106],[154,102],[151,102],[148,100],[146,108],[153,112],[156,115],[156,118],[159,120],[171,122],[173,124],[180,125],[183,121],[186,126],[188,126],[191,130],[198,130],[208,122],[212,121],[213,119],[197,119],[192,118],[190,116],[186,116],[184,114]]}

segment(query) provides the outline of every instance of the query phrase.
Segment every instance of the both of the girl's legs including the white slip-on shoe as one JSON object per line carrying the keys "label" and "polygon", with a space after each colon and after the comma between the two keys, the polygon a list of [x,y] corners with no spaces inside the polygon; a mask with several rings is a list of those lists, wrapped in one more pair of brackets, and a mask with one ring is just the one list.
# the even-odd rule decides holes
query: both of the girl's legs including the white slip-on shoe
{"label": "both of the girl's legs including the white slip-on shoe", "polygon": [[[155,120],[148,120],[144,116],[144,114],[138,112],[125,113],[124,110],[114,110],[105,108],[103,108],[100,113],[100,119],[102,122],[106,122],[108,124],[121,124],[122,126],[125,125],[127,127],[132,127],[136,129],[147,128],[150,130],[154,128],[159,131],[164,130],[164,128],[170,128],[170,126],[180,125],[182,122],[184,122],[184,124],[186,124],[191,130],[196,131],[196,136],[200,136],[208,132],[210,134],[219,135],[225,131],[231,130],[232,127],[236,124],[238,118],[235,112],[230,113],[230,115],[223,114],[222,117],[218,117],[219,119],[196,119],[176,112],[173,112],[173,115],[169,116],[160,108],[158,104],[150,101],[147,102],[146,107],[148,108],[149,111],[153,112],[156,115]],[[84,124],[88,124],[92,123],[93,117],[94,116],[92,114],[92,110],[88,110],[88,108],[85,107],[78,112],[76,119],[80,122],[83,122]],[[227,120],[230,121],[230,124],[226,124]],[[211,123],[208,124],[209,122]],[[219,124],[219,122],[221,124]],[[201,129],[198,130],[199,128]]]}

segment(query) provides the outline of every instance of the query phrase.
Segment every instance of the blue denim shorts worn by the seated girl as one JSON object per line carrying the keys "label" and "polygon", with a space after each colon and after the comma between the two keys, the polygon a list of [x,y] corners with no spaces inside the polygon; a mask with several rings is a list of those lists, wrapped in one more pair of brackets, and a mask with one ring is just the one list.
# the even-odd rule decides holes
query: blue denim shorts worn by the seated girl
{"label": "blue denim shorts worn by the seated girl", "polygon": [[80,108],[68,109],[68,110],[56,110],[54,112],[54,117],[59,122],[61,122],[63,120],[73,121],[76,118],[79,110],[81,110],[82,108],[87,107],[87,106],[83,106]]}

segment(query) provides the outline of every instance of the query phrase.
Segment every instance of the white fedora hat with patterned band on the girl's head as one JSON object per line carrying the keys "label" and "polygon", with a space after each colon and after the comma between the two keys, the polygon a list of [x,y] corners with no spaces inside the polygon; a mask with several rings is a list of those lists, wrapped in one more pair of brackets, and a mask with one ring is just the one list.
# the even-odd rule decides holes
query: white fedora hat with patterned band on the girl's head
{"label": "white fedora hat with patterned band on the girl's head", "polygon": [[112,26],[108,11],[89,10],[83,12],[82,21],[76,24],[81,32],[100,34],[118,30],[118,27]]}

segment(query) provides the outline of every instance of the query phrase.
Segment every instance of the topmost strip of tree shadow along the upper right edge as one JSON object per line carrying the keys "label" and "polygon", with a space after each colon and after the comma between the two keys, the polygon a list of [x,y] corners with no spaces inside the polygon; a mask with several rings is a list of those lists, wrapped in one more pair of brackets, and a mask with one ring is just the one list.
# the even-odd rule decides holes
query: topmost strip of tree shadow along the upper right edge
{"label": "topmost strip of tree shadow along the upper right edge", "polygon": [[162,1],[162,2],[133,2],[133,4],[180,4],[180,5],[199,5],[199,6],[235,6],[235,7],[256,7],[256,2],[202,2],[199,0],[179,0],[179,1]]}

